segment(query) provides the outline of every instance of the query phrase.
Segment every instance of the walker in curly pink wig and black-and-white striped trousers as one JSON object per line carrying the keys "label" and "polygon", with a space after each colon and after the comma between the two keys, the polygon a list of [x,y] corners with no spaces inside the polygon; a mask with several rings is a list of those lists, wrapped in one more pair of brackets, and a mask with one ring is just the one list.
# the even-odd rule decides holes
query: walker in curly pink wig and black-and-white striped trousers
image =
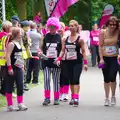
{"label": "walker in curly pink wig and black-and-white striped trousers", "polygon": [[54,105],[59,105],[59,90],[60,90],[60,67],[55,64],[55,59],[59,56],[61,51],[61,37],[56,31],[60,27],[59,20],[51,17],[47,21],[47,29],[49,33],[46,34],[43,40],[42,50],[47,56],[48,60],[43,62],[44,71],[44,95],[45,100],[43,105],[50,104],[50,81],[51,75],[53,79],[54,90]]}

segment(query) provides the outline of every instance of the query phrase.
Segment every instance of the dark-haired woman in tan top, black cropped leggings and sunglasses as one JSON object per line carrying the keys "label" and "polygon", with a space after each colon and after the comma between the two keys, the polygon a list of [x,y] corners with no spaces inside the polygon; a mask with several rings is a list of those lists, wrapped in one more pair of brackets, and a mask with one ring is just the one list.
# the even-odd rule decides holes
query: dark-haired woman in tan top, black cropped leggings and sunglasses
{"label": "dark-haired woman in tan top, black cropped leggings and sunglasses", "polygon": [[[118,19],[110,17],[107,22],[107,28],[100,33],[100,65],[104,77],[105,106],[116,104],[116,75],[118,70],[118,36],[119,24]],[[112,92],[111,101],[110,90]]]}

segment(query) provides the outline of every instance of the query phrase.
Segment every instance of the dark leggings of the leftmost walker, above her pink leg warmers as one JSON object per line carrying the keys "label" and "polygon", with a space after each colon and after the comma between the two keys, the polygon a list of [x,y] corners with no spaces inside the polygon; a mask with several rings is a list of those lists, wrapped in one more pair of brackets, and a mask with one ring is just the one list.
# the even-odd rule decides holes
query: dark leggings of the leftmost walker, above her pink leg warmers
{"label": "dark leggings of the leftmost walker, above her pink leg warmers", "polygon": [[7,73],[5,77],[6,93],[12,94],[14,82],[16,82],[17,96],[22,96],[23,95],[23,80],[24,80],[23,70],[18,67],[14,67],[13,71],[14,71],[14,75],[9,75],[7,72],[7,68],[5,71]]}

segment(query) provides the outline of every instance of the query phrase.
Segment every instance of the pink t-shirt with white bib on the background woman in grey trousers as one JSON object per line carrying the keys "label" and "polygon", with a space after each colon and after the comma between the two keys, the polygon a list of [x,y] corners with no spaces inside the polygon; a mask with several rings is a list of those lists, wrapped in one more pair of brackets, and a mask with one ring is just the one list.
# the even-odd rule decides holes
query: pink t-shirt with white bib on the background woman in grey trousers
{"label": "pink t-shirt with white bib on the background woman in grey trousers", "polygon": [[92,30],[90,32],[90,38],[91,38],[90,44],[98,46],[99,45],[99,35],[100,35],[100,30]]}

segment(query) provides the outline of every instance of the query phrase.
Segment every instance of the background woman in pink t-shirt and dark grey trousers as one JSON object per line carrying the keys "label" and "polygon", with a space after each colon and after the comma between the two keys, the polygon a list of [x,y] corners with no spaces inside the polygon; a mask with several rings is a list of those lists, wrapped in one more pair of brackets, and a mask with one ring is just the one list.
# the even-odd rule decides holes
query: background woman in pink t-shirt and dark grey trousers
{"label": "background woman in pink t-shirt and dark grey trousers", "polygon": [[100,30],[98,30],[98,25],[94,24],[93,30],[90,32],[90,48],[91,48],[91,61],[92,61],[92,66],[94,67],[96,65],[96,57],[97,57],[97,62],[99,63],[100,57],[99,57],[99,34]]}

